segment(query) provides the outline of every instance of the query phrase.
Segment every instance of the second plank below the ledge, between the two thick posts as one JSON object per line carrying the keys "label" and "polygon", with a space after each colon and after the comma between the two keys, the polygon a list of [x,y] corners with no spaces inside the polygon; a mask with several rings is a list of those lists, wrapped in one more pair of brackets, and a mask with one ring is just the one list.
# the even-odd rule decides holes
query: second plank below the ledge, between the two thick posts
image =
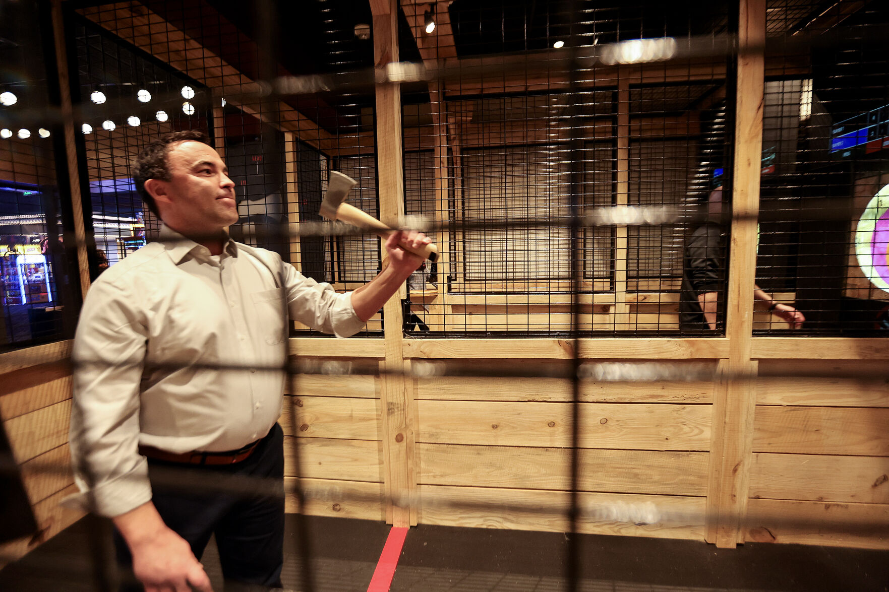
{"label": "second plank below the ledge, between the two thick posts", "polygon": [[[572,405],[418,401],[417,442],[571,446]],[[709,450],[710,405],[581,404],[582,448]]]}

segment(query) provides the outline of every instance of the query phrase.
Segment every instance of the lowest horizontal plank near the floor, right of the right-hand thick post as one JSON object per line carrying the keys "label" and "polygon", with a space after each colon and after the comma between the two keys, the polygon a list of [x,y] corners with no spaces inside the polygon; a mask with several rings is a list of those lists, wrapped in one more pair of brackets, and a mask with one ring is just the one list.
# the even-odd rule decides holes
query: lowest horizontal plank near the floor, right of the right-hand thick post
{"label": "lowest horizontal plank near the floor, right of the right-hand thick post", "polygon": [[889,549],[889,505],[749,500],[745,540]]}

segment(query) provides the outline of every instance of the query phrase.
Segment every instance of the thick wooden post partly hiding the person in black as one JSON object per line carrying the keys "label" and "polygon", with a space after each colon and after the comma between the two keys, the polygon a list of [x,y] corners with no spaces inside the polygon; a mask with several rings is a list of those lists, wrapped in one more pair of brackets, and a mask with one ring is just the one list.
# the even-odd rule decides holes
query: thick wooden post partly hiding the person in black
{"label": "thick wooden post partly hiding the person in black", "polygon": [[[732,244],[726,305],[729,340],[725,372],[755,372],[751,360],[753,286],[757,272],[759,173],[765,89],[765,0],[741,0],[738,88],[734,130]],[[757,48],[750,51],[749,48]],[[756,388],[751,380],[720,380],[713,400],[707,497],[707,540],[733,548],[743,542],[747,511]]]}

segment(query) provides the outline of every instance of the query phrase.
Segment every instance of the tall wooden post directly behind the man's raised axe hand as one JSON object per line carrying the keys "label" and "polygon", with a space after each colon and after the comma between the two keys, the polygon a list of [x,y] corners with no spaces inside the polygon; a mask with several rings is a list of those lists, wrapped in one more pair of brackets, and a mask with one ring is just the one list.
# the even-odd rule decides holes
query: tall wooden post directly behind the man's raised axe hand
{"label": "tall wooden post directly behind the man's raised axe hand", "polygon": [[[372,0],[373,60],[378,71],[398,61],[397,0]],[[380,220],[396,226],[404,214],[404,172],[401,140],[401,87],[394,83],[376,85],[377,182],[380,190]],[[386,359],[382,370],[399,372],[404,368],[404,332],[401,299],[406,287],[383,307]],[[413,405],[402,376],[381,373],[380,409],[383,412],[383,460],[387,472],[386,492],[398,495],[412,492]],[[387,518],[395,526],[412,523],[411,508],[392,505]],[[415,519],[415,516],[414,516]],[[415,523],[414,523],[415,524]]]}

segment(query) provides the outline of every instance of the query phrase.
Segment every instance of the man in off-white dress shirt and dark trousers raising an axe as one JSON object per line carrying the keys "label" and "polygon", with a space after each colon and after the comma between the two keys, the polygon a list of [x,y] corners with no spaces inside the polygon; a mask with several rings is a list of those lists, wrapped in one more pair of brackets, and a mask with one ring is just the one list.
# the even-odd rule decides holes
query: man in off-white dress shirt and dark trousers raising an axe
{"label": "man in off-white dress shirt and dark trousers raising an axe", "polygon": [[226,580],[280,587],[283,498],[162,491],[151,472],[283,480],[287,316],[354,334],[420,267],[399,244],[430,241],[391,236],[380,275],[338,294],[228,238],[235,184],[203,133],[153,142],[133,177],[162,240],[109,268],[84,301],[70,437],[81,499],[112,518],[118,556],[148,592],[209,590],[198,558],[213,533]]}

